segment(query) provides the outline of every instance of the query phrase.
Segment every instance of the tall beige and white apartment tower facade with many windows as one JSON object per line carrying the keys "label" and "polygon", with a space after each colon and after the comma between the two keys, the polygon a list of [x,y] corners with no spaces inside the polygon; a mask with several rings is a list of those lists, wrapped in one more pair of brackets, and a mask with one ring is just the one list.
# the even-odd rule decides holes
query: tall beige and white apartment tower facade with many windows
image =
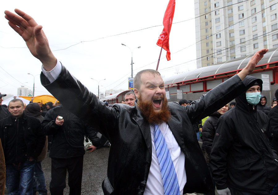
{"label": "tall beige and white apartment tower facade with many windows", "polygon": [[278,48],[278,0],[195,0],[197,68]]}

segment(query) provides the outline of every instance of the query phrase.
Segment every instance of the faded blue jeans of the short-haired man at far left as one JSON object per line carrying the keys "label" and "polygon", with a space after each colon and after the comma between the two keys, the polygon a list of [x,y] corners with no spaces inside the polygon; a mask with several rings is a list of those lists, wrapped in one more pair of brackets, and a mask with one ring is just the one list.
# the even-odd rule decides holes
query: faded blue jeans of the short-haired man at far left
{"label": "faded blue jeans of the short-haired man at far left", "polygon": [[6,165],[6,188],[8,195],[33,195],[35,160],[20,165]]}

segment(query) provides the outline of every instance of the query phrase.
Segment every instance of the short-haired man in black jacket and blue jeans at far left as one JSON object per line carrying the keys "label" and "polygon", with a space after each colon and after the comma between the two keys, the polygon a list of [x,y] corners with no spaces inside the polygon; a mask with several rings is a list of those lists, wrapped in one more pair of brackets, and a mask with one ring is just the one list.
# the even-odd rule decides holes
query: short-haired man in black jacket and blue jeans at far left
{"label": "short-haired man in black jacket and blue jeans at far left", "polygon": [[10,116],[0,121],[0,138],[6,163],[8,194],[33,195],[35,162],[44,147],[40,121],[25,114],[23,102],[9,103]]}

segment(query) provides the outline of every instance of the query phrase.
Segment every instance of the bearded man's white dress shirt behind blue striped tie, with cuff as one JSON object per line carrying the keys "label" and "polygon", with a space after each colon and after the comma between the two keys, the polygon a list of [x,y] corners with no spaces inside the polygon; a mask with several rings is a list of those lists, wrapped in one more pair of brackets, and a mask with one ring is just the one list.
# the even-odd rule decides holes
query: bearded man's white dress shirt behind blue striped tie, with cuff
{"label": "bearded man's white dress shirt behind blue striped tie, with cuff", "polygon": [[[47,72],[42,66],[42,72],[51,83],[57,79],[61,71],[62,64],[58,60],[56,66],[49,72]],[[168,124],[162,123],[158,126],[169,148],[169,152],[171,154],[171,158],[179,181],[180,194],[183,195],[183,187],[186,184],[186,172],[184,167],[185,156],[180,150],[180,147]],[[154,125],[150,125],[150,134],[152,139],[152,162],[144,195],[163,195],[164,189],[162,185],[162,176],[154,146]]]}

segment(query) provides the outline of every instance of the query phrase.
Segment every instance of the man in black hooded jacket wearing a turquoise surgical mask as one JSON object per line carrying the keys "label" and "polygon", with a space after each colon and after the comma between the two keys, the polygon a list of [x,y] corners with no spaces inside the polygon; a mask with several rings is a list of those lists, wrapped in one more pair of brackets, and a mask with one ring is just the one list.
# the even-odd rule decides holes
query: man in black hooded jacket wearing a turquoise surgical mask
{"label": "man in black hooded jacket wearing a turquoise surgical mask", "polygon": [[219,195],[270,194],[278,177],[278,156],[270,146],[269,119],[257,110],[261,79],[246,76],[246,91],[218,121],[210,165]]}

